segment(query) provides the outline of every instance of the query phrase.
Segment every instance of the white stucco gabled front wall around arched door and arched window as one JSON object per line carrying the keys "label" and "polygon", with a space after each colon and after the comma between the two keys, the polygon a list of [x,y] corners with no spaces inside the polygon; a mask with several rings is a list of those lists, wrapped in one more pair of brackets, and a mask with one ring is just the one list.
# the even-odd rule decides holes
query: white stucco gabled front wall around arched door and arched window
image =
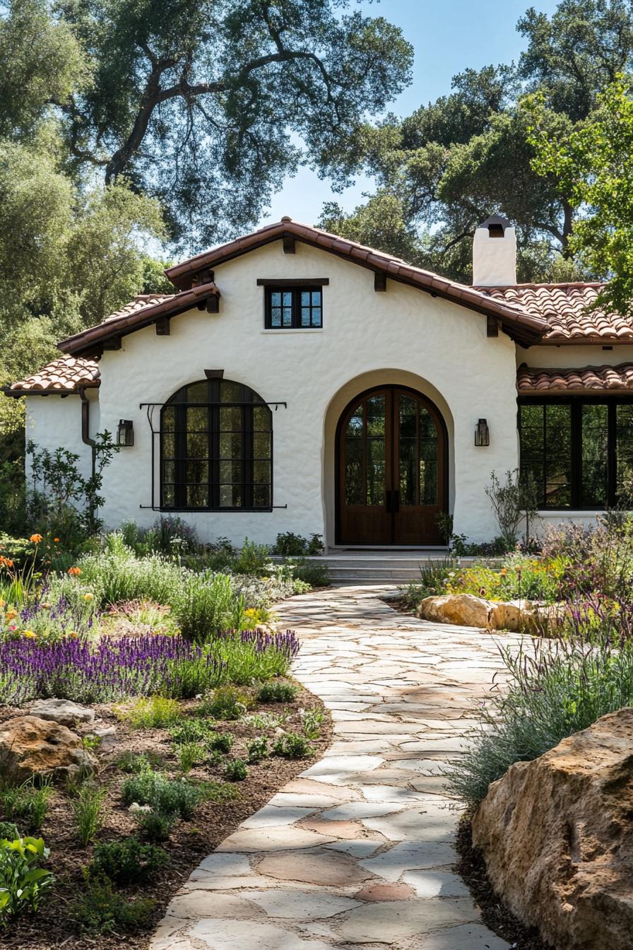
{"label": "white stucco gabled front wall around arched door and arched window", "polygon": [[[310,276],[329,278],[324,328],[265,331],[256,279]],[[294,531],[333,543],[338,414],[355,391],[404,378],[434,398],[449,428],[456,531],[476,540],[493,536],[484,485],[493,469],[517,465],[515,347],[505,333],[489,338],[485,316],[391,280],[386,293],[375,293],[372,272],[300,242],[294,255],[277,241],[216,267],[215,281],[219,314],[190,311],[171,321],[169,336],[148,327],[102,356],[100,427],[115,431],[125,418],[135,428],[135,446],[105,471],[106,523],[158,517],[140,507],[151,505],[152,490],[152,437],[140,403],[162,403],[205,370],[221,369],[267,401],[288,402],[273,411],[274,504],[288,507],[182,516],[202,539],[271,542],[280,531]],[[491,429],[488,448],[475,448],[479,417]],[[158,409],[155,418],[158,428]],[[158,504],[158,464],[156,473]]]}

